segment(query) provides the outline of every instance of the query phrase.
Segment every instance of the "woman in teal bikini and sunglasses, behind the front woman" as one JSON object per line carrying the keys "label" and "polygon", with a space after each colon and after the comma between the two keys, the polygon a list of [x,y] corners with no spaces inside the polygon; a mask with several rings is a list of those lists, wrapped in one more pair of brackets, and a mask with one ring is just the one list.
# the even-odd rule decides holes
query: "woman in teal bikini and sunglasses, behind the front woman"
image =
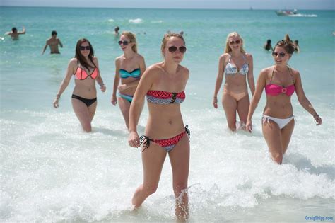
{"label": "woman in teal bikini and sunglasses, behind the front woman", "polygon": [[[124,53],[115,59],[116,70],[111,102],[112,105],[116,105],[119,101],[119,108],[129,129],[129,108],[141,75],[146,70],[146,63],[144,58],[137,53],[137,42],[133,33],[123,32],[119,39],[119,46]],[[120,78],[121,84],[119,85]],[[119,90],[118,98],[117,89]]]}

